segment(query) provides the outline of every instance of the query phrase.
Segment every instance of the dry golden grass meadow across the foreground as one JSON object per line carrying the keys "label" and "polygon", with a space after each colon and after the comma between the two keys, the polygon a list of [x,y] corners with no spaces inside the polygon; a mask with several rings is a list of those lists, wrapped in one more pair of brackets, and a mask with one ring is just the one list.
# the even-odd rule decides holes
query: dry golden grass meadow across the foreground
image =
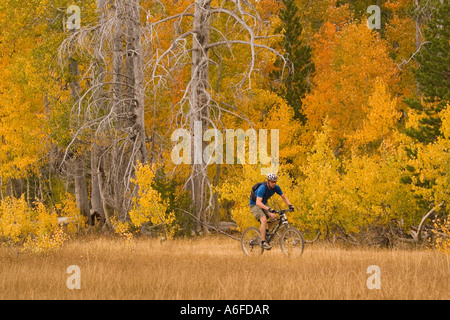
{"label": "dry golden grass meadow across the foreground", "polygon": [[[81,270],[70,290],[67,267]],[[378,265],[381,289],[369,290]],[[0,248],[0,299],[449,299],[449,257],[430,250],[315,244],[292,260],[279,249],[250,258],[230,238],[86,237],[45,256]]]}

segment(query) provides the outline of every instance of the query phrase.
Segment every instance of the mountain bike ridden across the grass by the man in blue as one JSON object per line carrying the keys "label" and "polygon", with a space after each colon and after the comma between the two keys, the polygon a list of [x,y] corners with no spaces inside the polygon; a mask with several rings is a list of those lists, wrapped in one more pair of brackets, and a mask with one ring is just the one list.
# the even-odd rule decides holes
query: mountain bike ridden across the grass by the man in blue
{"label": "mountain bike ridden across the grass by the man in blue", "polygon": [[[286,212],[290,210],[275,211],[279,215],[277,219],[268,220],[269,230],[266,230],[266,242],[279,245],[284,254],[288,257],[298,257],[303,253],[305,240],[300,231],[289,226]],[[274,223],[278,222],[275,226]],[[241,236],[241,247],[248,256],[256,256],[264,253],[261,246],[260,231],[256,227],[249,227],[244,230]]]}

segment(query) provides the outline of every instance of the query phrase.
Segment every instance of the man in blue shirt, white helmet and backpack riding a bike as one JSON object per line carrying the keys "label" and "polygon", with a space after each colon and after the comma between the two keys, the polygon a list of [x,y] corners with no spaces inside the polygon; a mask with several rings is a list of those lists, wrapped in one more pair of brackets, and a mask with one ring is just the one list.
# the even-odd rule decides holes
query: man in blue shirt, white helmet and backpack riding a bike
{"label": "man in blue shirt, white helmet and backpack riding a bike", "polygon": [[266,228],[267,219],[276,219],[277,215],[275,210],[267,206],[267,200],[275,193],[281,196],[283,201],[289,205],[290,210],[294,210],[294,207],[289,202],[289,199],[281,191],[281,188],[277,185],[278,177],[275,173],[267,174],[267,182],[261,184],[255,191],[256,200],[250,199],[250,210],[252,211],[255,218],[261,223],[260,235],[261,235],[261,246],[265,250],[270,250],[272,247],[266,242]]}

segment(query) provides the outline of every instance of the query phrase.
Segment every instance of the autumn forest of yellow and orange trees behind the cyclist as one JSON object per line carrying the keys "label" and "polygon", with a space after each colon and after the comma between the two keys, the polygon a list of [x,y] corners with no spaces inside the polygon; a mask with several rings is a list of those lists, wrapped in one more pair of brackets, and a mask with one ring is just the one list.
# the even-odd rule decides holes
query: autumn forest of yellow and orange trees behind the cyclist
{"label": "autumn forest of yellow and orange trees behind the cyclist", "polygon": [[[46,251],[94,212],[127,238],[241,231],[272,153],[220,163],[204,133],[253,128],[279,130],[307,237],[448,253],[449,16],[443,0],[2,1],[0,239]],[[197,121],[215,161],[174,163],[173,132],[195,141]]]}

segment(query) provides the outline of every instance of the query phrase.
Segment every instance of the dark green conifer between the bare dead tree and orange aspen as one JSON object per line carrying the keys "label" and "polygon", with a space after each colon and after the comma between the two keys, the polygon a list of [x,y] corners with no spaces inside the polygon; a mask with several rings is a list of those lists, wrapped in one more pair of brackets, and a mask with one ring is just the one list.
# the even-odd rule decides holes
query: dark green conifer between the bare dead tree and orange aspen
{"label": "dark green conifer between the bare dead tree and orange aspen", "polygon": [[[282,0],[279,17],[281,24],[279,30],[276,31],[277,33],[284,32],[280,47],[288,61],[289,74],[283,79],[281,85],[274,88],[274,91],[286,99],[294,109],[295,119],[305,123],[306,117],[302,112],[302,99],[310,89],[308,77],[311,77],[315,71],[314,64],[311,61],[311,48],[303,44],[301,40],[303,27],[294,0]],[[271,73],[271,78],[272,80],[280,80],[283,66],[281,59],[276,61],[275,66],[278,70]]]}

